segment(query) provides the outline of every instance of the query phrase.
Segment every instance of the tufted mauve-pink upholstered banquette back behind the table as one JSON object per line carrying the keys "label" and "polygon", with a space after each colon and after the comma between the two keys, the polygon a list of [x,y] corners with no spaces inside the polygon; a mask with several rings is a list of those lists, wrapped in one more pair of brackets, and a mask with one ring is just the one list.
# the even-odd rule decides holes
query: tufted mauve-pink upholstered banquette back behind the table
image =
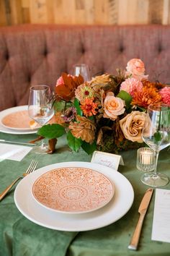
{"label": "tufted mauve-pink upholstered banquette back behind the table", "polygon": [[0,110],[27,104],[30,85],[53,88],[73,64],[115,74],[132,58],[145,62],[150,80],[170,83],[170,25],[1,27]]}

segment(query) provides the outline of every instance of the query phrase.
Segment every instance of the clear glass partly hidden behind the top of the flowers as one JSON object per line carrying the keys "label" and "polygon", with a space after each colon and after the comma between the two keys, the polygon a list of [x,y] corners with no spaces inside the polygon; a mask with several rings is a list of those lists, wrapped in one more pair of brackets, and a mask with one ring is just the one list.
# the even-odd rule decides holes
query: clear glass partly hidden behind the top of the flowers
{"label": "clear glass partly hidden behind the top of the flowers", "polygon": [[81,74],[81,77],[84,77],[84,81],[90,81],[90,69],[89,65],[87,64],[75,64],[73,65],[73,75],[79,76]]}

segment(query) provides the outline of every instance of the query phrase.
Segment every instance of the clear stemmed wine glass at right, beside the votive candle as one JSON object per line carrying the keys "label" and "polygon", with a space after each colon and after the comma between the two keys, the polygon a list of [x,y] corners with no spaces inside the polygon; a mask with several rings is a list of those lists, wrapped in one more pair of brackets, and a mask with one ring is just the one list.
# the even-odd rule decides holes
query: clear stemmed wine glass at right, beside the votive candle
{"label": "clear stemmed wine glass at right, beside the votive candle", "polygon": [[155,168],[153,173],[148,173],[144,184],[151,187],[161,187],[169,183],[165,174],[157,173],[158,154],[160,150],[170,145],[170,107],[164,103],[148,106],[146,122],[142,132],[143,141],[154,150]]}

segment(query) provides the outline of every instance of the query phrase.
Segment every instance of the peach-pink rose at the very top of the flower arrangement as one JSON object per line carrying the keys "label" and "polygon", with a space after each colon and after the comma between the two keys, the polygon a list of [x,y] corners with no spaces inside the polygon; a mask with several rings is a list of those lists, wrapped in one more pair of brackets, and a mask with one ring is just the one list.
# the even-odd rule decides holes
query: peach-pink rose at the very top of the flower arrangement
{"label": "peach-pink rose at the very top of the flower arrangement", "polygon": [[127,74],[132,74],[132,77],[140,81],[148,79],[148,75],[145,75],[145,65],[141,59],[130,59],[130,61],[128,61],[126,70]]}

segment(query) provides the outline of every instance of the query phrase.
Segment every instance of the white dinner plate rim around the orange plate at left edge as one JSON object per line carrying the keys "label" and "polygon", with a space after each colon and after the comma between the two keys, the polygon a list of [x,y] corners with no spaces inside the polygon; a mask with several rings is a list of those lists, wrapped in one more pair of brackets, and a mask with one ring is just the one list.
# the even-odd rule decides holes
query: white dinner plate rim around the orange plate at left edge
{"label": "white dinner plate rim around the orange plate at left edge", "polygon": [[4,124],[2,124],[2,119],[12,113],[18,112],[18,111],[25,111],[27,110],[28,106],[16,106],[14,108],[7,108],[3,111],[0,112],[0,132],[4,132],[4,133],[9,133],[12,135],[28,135],[28,134],[33,134],[37,132],[37,129],[14,129],[13,128],[9,128],[9,127],[5,127]]}

